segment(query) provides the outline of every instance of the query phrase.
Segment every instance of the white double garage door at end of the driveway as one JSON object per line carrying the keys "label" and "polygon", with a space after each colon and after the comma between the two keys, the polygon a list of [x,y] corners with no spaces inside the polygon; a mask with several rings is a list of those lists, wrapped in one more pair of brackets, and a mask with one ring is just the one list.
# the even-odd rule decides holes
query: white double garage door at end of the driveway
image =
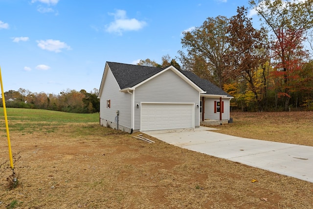
{"label": "white double garage door at end of the driveway", "polygon": [[140,130],[194,128],[194,104],[141,104]]}

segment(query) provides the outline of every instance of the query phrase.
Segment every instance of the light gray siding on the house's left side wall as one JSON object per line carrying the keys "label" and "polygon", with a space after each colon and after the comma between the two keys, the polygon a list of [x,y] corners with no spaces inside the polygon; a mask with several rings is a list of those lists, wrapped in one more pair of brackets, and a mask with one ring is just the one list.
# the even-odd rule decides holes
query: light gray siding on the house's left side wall
{"label": "light gray siding on the house's left side wall", "polygon": [[[100,124],[107,126],[109,123],[115,128],[116,110],[119,110],[119,129],[123,130],[123,127],[132,128],[132,95],[119,90],[119,85],[109,68],[100,96]],[[107,100],[111,100],[111,108],[107,108]]]}

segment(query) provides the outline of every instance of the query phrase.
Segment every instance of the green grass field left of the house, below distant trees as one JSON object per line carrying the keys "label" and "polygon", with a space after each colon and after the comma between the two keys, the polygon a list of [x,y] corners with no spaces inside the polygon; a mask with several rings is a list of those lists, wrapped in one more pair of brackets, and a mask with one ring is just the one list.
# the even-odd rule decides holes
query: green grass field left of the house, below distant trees
{"label": "green grass field left of the house, below distant trees", "polygon": [[[99,125],[98,113],[67,113],[42,109],[7,108],[9,130],[17,133],[54,133],[60,128],[74,137],[128,135]],[[3,122],[3,123],[2,123]],[[6,132],[3,108],[0,108],[0,131]],[[70,127],[68,127],[70,125]],[[6,135],[4,134],[6,137]]]}

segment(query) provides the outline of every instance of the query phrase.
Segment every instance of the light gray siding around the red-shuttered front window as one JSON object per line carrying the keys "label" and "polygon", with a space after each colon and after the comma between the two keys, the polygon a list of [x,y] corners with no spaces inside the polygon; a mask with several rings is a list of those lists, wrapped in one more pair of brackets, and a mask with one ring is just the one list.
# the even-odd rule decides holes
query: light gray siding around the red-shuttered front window
{"label": "light gray siding around the red-shuttered front window", "polygon": [[[220,113],[214,113],[214,101],[220,101],[220,99],[205,98],[204,119],[206,120],[220,120]],[[228,120],[229,99],[222,99],[222,101],[224,101],[224,113],[222,113],[222,120]]]}

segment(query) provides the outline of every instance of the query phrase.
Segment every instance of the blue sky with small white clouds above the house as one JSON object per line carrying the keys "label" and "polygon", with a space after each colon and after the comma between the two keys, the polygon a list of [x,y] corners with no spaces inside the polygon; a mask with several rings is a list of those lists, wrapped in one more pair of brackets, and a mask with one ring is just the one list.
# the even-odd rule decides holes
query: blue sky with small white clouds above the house
{"label": "blue sky with small white clouds above the house", "polygon": [[0,0],[4,91],[90,92],[107,61],[176,58],[182,31],[243,5],[248,0]]}

